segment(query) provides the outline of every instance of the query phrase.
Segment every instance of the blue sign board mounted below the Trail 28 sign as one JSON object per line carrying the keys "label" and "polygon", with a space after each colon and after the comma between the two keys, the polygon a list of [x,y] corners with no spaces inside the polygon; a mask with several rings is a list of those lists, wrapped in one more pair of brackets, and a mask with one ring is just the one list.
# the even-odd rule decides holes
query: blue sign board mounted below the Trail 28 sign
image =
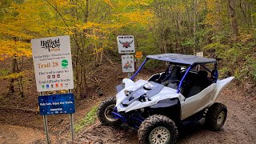
{"label": "blue sign board mounted below the Trail 28 sign", "polygon": [[38,97],[41,115],[74,114],[74,94],[54,94]]}

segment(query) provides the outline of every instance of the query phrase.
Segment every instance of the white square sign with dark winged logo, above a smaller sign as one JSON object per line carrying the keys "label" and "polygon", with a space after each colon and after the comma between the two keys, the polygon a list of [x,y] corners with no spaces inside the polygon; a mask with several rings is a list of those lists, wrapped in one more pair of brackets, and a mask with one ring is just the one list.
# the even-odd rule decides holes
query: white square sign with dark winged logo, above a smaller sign
{"label": "white square sign with dark winged logo, above a smaller sign", "polygon": [[133,35],[118,35],[118,53],[129,54],[135,52]]}

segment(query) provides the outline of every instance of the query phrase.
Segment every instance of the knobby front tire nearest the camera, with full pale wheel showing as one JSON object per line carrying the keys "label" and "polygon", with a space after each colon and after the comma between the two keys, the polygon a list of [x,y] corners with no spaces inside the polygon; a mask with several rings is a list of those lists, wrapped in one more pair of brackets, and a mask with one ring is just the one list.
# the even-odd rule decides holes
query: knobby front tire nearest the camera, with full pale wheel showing
{"label": "knobby front tire nearest the camera, with full pale wheel showing", "polygon": [[138,129],[138,142],[141,144],[173,144],[177,138],[177,126],[164,115],[155,114],[146,118]]}

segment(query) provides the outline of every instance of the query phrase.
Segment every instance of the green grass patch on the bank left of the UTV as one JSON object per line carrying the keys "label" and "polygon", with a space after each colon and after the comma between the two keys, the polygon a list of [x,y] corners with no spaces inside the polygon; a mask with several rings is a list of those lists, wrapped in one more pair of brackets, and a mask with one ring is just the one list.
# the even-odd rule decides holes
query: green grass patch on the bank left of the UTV
{"label": "green grass patch on the bank left of the UTV", "polygon": [[90,126],[95,122],[97,118],[97,109],[98,105],[94,106],[89,113],[86,114],[85,118],[82,118],[77,124],[74,125],[74,131],[78,132],[85,128],[86,126]]}

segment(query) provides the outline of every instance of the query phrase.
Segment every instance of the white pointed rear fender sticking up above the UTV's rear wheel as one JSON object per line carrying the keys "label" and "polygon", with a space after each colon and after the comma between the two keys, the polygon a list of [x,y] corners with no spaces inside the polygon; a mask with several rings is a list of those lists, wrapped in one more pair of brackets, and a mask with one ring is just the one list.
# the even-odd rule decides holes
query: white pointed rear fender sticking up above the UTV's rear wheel
{"label": "white pointed rear fender sticking up above the UTV's rear wheel", "polygon": [[217,87],[216,87],[214,96],[211,99],[213,103],[216,102],[218,95],[221,94],[222,90],[224,90],[226,88],[226,86],[229,86],[230,82],[233,79],[234,79],[234,77],[230,77],[230,78],[222,79],[221,81],[217,81]]}

